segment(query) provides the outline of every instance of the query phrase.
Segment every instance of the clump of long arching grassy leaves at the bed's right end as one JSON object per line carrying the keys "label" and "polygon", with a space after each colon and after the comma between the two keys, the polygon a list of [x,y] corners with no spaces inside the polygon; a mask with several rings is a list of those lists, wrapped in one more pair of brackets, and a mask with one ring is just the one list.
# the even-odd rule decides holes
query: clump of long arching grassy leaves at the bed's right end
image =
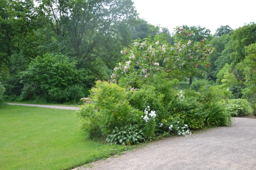
{"label": "clump of long arching grassy leaves at the bed's right end", "polygon": [[210,106],[205,121],[207,126],[229,126],[231,123],[231,115],[226,111],[224,105],[213,104]]}

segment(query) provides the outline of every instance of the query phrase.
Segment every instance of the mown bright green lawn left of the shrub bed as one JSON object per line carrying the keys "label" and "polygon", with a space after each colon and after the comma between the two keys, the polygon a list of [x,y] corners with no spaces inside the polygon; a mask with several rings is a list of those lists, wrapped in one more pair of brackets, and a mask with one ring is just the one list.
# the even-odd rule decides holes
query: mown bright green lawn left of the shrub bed
{"label": "mown bright green lawn left of the shrub bed", "polygon": [[70,169],[130,149],[85,137],[74,111],[0,108],[0,169]]}

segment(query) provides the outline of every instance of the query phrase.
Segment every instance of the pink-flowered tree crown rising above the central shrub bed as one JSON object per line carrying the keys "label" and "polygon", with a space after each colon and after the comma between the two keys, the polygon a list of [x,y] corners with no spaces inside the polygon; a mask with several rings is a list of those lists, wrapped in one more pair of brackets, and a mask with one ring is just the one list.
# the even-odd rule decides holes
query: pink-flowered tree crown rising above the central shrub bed
{"label": "pink-flowered tree crown rising above the central shrub bed", "polygon": [[192,42],[190,36],[192,32],[177,28],[174,45],[163,36],[134,41],[121,51],[123,60],[114,68],[111,80],[132,88],[159,78],[158,75],[167,80],[183,80],[197,74],[200,66],[209,65],[206,58],[212,47],[204,40]]}

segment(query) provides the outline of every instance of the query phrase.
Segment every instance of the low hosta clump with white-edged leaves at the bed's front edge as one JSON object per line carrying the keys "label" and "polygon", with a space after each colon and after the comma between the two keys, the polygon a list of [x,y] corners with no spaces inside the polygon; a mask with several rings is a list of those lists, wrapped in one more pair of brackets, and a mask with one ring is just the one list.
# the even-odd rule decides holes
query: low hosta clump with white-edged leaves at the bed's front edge
{"label": "low hosta clump with white-edged leaves at the bed's front edge", "polygon": [[124,128],[115,128],[106,141],[115,145],[135,145],[145,142],[145,134],[136,125],[127,125]]}

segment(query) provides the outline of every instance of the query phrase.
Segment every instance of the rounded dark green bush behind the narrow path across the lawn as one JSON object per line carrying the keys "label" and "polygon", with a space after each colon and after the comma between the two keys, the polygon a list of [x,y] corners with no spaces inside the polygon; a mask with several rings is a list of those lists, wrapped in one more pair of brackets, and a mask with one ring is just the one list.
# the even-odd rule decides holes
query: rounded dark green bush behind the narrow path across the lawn
{"label": "rounded dark green bush behind the narrow path across the lawn", "polygon": [[46,101],[67,102],[83,97],[83,72],[76,69],[65,55],[46,54],[36,57],[21,73],[21,97],[26,100],[43,98]]}

